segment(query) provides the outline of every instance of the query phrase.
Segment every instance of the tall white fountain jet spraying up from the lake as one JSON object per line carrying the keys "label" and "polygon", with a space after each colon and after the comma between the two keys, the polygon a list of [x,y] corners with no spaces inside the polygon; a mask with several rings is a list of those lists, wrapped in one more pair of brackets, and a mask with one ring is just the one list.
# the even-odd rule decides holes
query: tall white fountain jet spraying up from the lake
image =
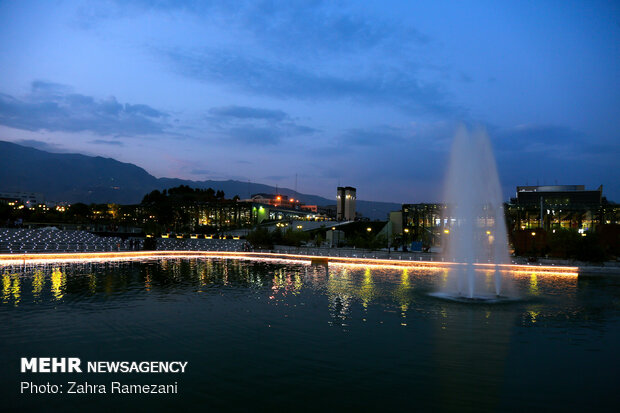
{"label": "tall white fountain jet spraying up from the lake", "polygon": [[[469,299],[508,295],[508,277],[497,265],[509,262],[502,191],[485,131],[457,131],[444,201],[444,259],[458,264],[450,269],[443,293]],[[477,263],[496,265],[476,267]]]}

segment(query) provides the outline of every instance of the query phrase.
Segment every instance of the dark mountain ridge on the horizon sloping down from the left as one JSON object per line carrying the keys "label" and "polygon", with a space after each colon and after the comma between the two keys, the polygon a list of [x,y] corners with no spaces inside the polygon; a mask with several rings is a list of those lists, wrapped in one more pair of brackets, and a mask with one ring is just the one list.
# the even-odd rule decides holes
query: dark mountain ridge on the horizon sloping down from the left
{"label": "dark mountain ridge on the horizon sloping down from the left", "polygon": [[[276,188],[241,181],[190,181],[177,178],[155,178],[131,163],[100,156],[50,153],[11,142],[0,141],[0,191],[40,192],[51,201],[84,203],[137,204],[155,189],[178,185],[222,190],[227,197],[247,198],[259,192],[275,193]],[[333,205],[334,199],[301,194],[289,188],[278,188],[310,205]],[[336,188],[334,188],[336,192]],[[357,201],[357,210],[370,219],[386,219],[400,204]]]}

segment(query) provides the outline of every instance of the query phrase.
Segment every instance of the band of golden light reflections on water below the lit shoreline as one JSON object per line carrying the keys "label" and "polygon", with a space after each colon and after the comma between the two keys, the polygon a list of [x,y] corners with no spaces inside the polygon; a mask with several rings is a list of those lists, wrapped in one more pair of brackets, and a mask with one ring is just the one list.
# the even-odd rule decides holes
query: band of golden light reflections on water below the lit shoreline
{"label": "band of golden light reflections on water below the lit shoreline", "polygon": [[[493,271],[485,271],[487,283]],[[14,306],[26,300],[50,303],[68,296],[88,293],[106,299],[131,300],[142,294],[155,296],[179,292],[200,294],[265,294],[272,303],[286,303],[294,297],[325,297],[325,305],[337,325],[353,320],[366,321],[368,311],[379,306],[384,313],[398,315],[407,327],[409,314],[438,314],[448,318],[445,308],[433,309],[426,293],[448,280],[447,269],[381,268],[369,266],[281,264],[264,261],[215,258],[151,259],[142,262],[35,265],[5,267],[2,273],[2,303]],[[514,284],[522,298],[522,323],[533,325],[558,317],[580,314],[578,278],[541,275],[535,272],[515,275]],[[582,285],[585,286],[585,284]],[[562,306],[541,305],[539,300],[562,297]],[[492,318],[492,317],[490,317]],[[441,324],[441,327],[448,327]]]}

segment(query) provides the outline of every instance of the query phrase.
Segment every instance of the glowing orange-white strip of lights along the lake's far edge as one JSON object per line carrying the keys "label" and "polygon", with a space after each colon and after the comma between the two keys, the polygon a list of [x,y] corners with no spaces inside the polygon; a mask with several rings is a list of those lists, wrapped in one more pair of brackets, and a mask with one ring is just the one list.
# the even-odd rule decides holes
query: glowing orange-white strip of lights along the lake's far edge
{"label": "glowing orange-white strip of lights along the lake's far edge", "polygon": [[[147,258],[233,258],[248,260],[289,261],[303,263],[325,263],[350,266],[372,266],[384,268],[413,267],[418,269],[438,270],[446,267],[464,265],[454,262],[387,260],[373,258],[332,257],[323,255],[285,254],[268,252],[230,252],[230,251],[124,251],[124,252],[89,252],[89,253],[40,253],[40,254],[0,254],[0,266],[18,264],[48,264],[54,262],[101,262],[114,260],[141,260]],[[515,273],[537,273],[549,275],[578,276],[579,267],[516,264],[474,264],[480,270],[499,267],[501,271]]]}

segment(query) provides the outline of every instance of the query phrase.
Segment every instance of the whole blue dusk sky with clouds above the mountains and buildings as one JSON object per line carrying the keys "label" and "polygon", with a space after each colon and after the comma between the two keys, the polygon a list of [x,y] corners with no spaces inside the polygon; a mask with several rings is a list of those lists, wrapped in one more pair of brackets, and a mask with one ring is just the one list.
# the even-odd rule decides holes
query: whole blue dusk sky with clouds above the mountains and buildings
{"label": "whole blue dusk sky with clouds above the mountains and buildings", "polygon": [[618,44],[612,1],[0,1],[0,139],[423,202],[464,123],[506,198],[557,182],[620,201]]}

